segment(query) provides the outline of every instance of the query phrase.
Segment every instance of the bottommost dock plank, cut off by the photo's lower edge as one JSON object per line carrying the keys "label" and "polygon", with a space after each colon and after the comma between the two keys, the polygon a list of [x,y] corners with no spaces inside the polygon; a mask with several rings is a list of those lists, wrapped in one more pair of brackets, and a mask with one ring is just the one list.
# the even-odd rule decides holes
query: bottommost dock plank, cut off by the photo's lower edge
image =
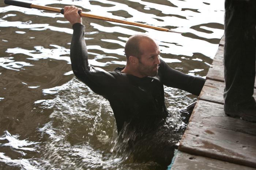
{"label": "bottommost dock plank, cut off by the photo's lower edge", "polygon": [[204,158],[178,151],[171,170],[255,170],[234,163]]}

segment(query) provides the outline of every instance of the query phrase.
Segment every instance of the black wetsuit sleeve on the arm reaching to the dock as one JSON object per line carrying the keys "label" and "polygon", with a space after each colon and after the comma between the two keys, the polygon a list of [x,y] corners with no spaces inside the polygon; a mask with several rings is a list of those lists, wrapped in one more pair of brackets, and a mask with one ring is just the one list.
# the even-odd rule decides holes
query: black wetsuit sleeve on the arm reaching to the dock
{"label": "black wetsuit sleeve on the arm reaching to the dock", "polygon": [[199,96],[206,81],[204,78],[187,75],[174,70],[161,59],[160,62],[161,80],[165,86],[185,90]]}

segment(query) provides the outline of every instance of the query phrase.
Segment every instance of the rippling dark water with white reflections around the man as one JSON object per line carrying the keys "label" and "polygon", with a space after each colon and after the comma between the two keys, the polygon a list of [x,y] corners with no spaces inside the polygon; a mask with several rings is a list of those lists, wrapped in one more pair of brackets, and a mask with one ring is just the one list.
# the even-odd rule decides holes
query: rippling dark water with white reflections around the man
{"label": "rippling dark water with white reflections around the man", "polygon": [[[89,59],[107,71],[125,65],[129,36],[146,33],[160,45],[161,57],[185,74],[206,76],[223,35],[224,0],[33,0],[189,32],[83,19]],[[156,3],[157,2],[157,3]],[[63,15],[4,5],[0,1],[0,169],[158,169],[120,154],[109,102],[72,73],[71,25]],[[196,101],[185,91],[165,87],[170,116],[152,141],[178,145],[186,124],[178,110]],[[153,146],[153,143],[145,145]],[[158,151],[157,148],[155,149]]]}

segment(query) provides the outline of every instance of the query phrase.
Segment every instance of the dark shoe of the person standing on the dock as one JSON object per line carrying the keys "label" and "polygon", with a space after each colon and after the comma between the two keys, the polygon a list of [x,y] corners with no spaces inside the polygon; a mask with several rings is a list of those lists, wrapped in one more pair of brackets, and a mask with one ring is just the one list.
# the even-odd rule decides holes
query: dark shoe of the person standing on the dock
{"label": "dark shoe of the person standing on the dock", "polygon": [[248,122],[256,122],[256,106],[240,111],[225,111],[225,114],[233,118],[242,118]]}

